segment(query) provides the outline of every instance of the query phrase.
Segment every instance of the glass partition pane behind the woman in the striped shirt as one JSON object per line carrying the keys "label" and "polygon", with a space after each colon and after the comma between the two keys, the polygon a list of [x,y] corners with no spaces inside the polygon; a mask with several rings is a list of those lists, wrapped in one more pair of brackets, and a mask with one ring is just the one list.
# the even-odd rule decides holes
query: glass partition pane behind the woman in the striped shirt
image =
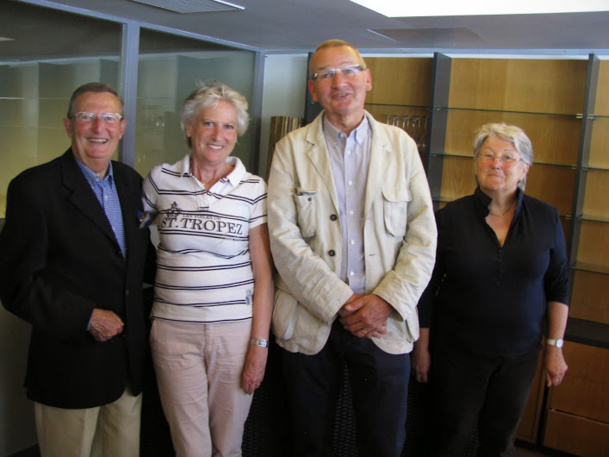
{"label": "glass partition pane behind the woman in the striped shirt", "polygon": [[[198,81],[217,80],[251,103],[255,53],[142,30],[138,69],[135,168],[145,176],[161,163],[175,163],[189,153],[180,129],[184,99]],[[251,112],[250,112],[251,116]],[[250,169],[254,151],[250,123],[233,151]]]}

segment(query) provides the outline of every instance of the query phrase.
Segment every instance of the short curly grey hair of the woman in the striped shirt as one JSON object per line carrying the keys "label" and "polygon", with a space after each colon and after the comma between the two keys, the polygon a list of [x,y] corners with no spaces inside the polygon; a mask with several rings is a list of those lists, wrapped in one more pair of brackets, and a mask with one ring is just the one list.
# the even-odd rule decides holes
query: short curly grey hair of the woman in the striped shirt
{"label": "short curly grey hair of the woman in the striped shirt", "polygon": [[[200,111],[207,108],[215,108],[220,101],[225,101],[233,105],[237,111],[237,134],[243,135],[247,131],[249,124],[249,114],[247,113],[247,100],[236,90],[230,88],[219,81],[200,81],[197,88],[193,90],[182,106],[180,125],[186,132],[186,126],[191,125]],[[188,147],[192,147],[192,141],[186,138]]]}

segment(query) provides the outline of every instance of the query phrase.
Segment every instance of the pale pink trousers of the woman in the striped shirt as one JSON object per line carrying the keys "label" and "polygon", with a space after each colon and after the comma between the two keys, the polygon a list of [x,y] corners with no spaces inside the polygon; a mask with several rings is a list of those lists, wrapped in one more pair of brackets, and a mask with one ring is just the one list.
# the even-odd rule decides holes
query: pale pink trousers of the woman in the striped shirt
{"label": "pale pink trousers of the woman in the striped shirt", "polygon": [[176,457],[239,457],[252,396],[241,388],[251,321],[155,319],[150,344]]}

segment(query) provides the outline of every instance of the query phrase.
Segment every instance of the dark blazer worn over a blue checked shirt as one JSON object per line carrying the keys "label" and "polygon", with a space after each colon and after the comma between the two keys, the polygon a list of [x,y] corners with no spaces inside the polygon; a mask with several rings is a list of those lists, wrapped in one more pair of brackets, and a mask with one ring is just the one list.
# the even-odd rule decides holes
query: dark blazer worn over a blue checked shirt
{"label": "dark blazer worn over a blue checked shirt", "polygon": [[[127,246],[123,258],[103,208],[71,149],[9,185],[0,233],[0,299],[32,324],[25,385],[30,399],[90,408],[142,389],[147,315],[145,270],[154,248],[140,229],[142,178],[112,162]],[[150,278],[149,278],[150,279]],[[114,311],[124,332],[99,343],[87,331],[93,308]]]}

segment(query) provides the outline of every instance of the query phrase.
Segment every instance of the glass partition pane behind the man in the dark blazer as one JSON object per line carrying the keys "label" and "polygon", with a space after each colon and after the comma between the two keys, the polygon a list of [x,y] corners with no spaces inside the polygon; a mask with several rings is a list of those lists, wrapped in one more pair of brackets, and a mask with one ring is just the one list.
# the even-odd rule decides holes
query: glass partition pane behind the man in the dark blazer
{"label": "glass partition pane behind the man in the dark blazer", "polygon": [[3,218],[10,180],[69,147],[62,119],[74,89],[90,81],[118,86],[121,25],[15,2],[0,2],[0,18]]}

